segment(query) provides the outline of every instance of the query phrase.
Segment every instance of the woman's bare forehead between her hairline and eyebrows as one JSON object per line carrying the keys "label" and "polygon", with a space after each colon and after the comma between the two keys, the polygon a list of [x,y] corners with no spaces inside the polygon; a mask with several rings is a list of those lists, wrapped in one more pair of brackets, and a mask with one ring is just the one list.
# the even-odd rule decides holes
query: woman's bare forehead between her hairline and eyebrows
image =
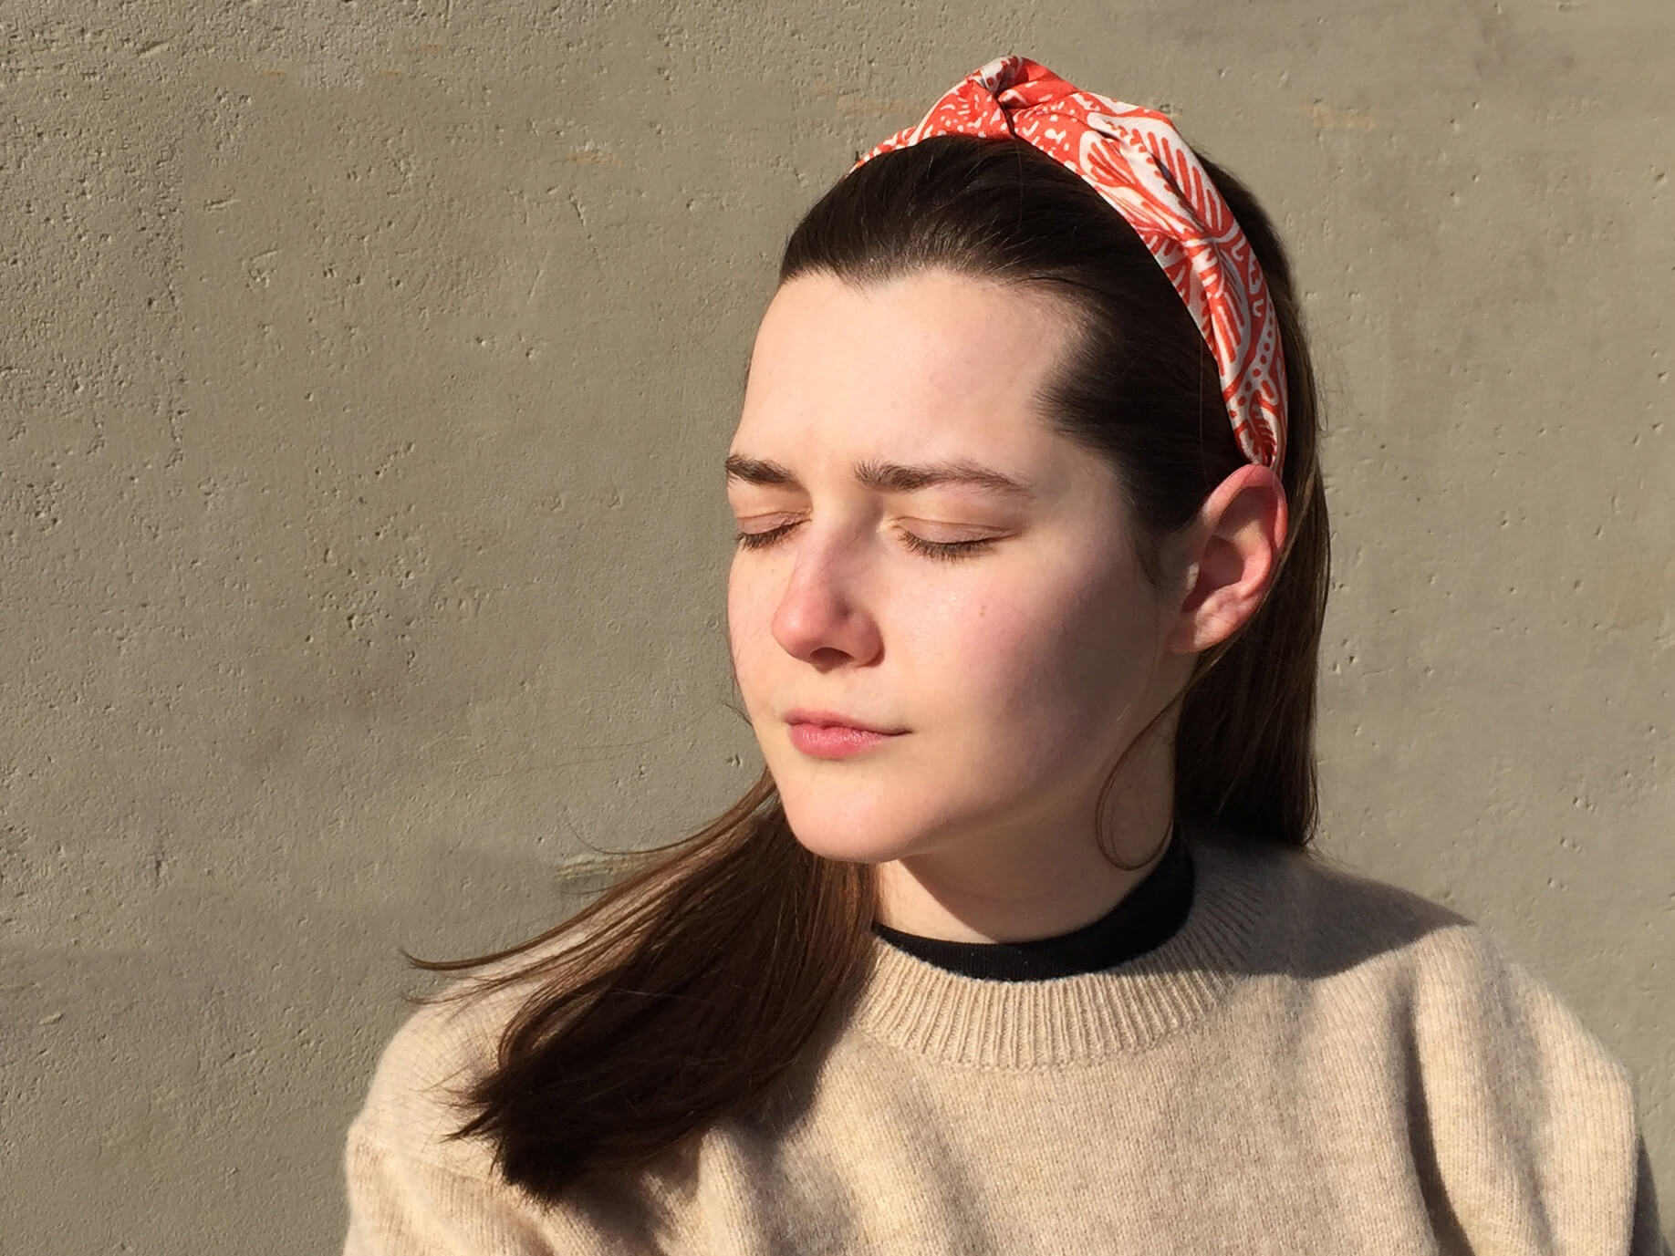
{"label": "woman's bare forehead between her hairline and eyebrows", "polygon": [[1072,333],[1067,303],[1023,285],[943,270],[864,286],[801,275],[762,317],[734,447],[1040,464],[1067,444],[1040,392]]}

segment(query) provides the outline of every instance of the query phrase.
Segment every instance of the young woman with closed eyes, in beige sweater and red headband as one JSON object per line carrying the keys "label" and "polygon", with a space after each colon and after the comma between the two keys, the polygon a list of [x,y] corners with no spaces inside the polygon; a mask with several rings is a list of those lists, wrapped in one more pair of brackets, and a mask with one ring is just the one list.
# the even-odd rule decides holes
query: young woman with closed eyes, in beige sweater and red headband
{"label": "young woman with closed eyes, in beige sweater and red headband", "polygon": [[1007,57],[802,219],[725,459],[765,770],[420,1010],[348,1253],[1662,1249],[1631,1080],[1308,854],[1291,275],[1161,114]]}

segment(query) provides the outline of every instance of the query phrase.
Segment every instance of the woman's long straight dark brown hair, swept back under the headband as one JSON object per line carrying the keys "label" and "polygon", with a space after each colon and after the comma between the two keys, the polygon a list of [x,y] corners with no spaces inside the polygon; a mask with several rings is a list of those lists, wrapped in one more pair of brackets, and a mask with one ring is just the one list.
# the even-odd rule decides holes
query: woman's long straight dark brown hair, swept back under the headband
{"label": "woman's long straight dark brown hair, swept back under the headband", "polygon": [[[1315,380],[1273,224],[1236,179],[1204,166],[1280,317],[1290,533],[1261,610],[1199,656],[1181,698],[1176,814],[1303,847],[1315,827],[1328,563]],[[933,266],[1045,285],[1080,311],[1080,340],[1044,400],[1059,430],[1117,467],[1149,538],[1184,528],[1243,466],[1214,360],[1167,276],[1127,223],[1050,157],[1022,141],[955,136],[874,157],[802,218],[779,278],[832,273],[864,285]],[[489,1139],[504,1176],[539,1197],[556,1201],[583,1176],[642,1169],[764,1097],[864,976],[873,869],[806,851],[767,772],[697,834],[643,854],[647,867],[521,946],[415,961],[434,971],[496,965],[461,993],[533,986],[496,1067],[464,1095],[457,1137]],[[544,945],[556,939],[573,945],[553,953]]]}

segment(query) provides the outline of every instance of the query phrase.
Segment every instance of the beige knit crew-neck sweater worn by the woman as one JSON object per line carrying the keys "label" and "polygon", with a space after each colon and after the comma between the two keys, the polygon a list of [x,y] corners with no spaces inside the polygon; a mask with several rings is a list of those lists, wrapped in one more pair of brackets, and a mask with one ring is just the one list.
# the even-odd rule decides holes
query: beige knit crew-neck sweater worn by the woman
{"label": "beige knit crew-neck sweater worn by the woman", "polygon": [[1290,852],[1193,839],[1161,948],[960,976],[874,938],[750,1119],[559,1207],[446,1142],[506,998],[419,1011],[348,1134],[350,1256],[1653,1256],[1630,1077],[1479,928]]}

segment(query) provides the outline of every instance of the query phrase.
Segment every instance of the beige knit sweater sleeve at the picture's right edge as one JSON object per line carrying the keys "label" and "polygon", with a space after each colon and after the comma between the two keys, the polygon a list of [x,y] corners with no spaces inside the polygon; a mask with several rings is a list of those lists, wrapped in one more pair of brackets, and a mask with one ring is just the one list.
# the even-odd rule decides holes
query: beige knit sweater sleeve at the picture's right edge
{"label": "beige knit sweater sleeve at the picture's right edge", "polygon": [[1412,1097],[1439,1231],[1474,1256],[1667,1256],[1628,1070],[1486,933],[1444,933]]}

